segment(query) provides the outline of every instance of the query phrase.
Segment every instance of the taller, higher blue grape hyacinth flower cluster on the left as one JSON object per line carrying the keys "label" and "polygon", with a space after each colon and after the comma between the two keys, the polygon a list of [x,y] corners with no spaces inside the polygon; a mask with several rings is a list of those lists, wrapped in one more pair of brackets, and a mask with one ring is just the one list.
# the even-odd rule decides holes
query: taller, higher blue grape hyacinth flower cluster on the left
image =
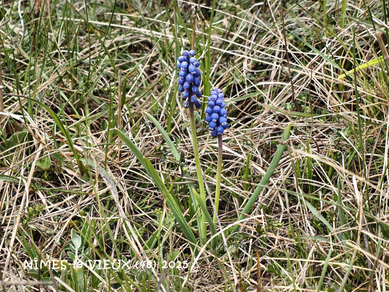
{"label": "taller, higher blue grape hyacinth flower cluster on the left", "polygon": [[[202,95],[198,89],[201,73],[197,68],[200,66],[200,63],[194,56],[195,50],[185,50],[182,52],[182,56],[179,56],[177,59],[177,69],[180,69],[178,91],[182,92],[181,99],[185,100],[184,107],[186,108],[189,107],[189,102],[195,104],[197,108],[201,106],[200,101],[197,99],[197,97]],[[189,100],[188,97],[190,97]]]}

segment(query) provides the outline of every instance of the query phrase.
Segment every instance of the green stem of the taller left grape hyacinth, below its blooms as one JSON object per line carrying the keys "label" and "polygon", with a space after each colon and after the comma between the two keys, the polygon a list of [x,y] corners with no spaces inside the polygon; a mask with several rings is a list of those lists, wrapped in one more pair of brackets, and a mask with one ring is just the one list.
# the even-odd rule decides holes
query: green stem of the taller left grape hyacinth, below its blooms
{"label": "green stem of the taller left grape hyacinth, below its blooms", "polygon": [[[191,124],[191,131],[192,131],[192,144],[193,144],[193,153],[195,155],[195,163],[196,163],[196,171],[197,171],[197,179],[198,179],[198,185],[200,188],[200,196],[205,203],[205,188],[204,188],[204,181],[203,181],[203,175],[201,172],[200,167],[200,158],[198,155],[198,147],[197,147],[197,135],[196,135],[196,124],[195,124],[195,110],[193,109],[193,103],[189,102],[189,120]],[[201,226],[199,226],[200,231],[200,238],[205,242],[207,238],[207,218],[205,217],[204,212],[202,212],[201,215]],[[200,228],[201,227],[201,228]]]}

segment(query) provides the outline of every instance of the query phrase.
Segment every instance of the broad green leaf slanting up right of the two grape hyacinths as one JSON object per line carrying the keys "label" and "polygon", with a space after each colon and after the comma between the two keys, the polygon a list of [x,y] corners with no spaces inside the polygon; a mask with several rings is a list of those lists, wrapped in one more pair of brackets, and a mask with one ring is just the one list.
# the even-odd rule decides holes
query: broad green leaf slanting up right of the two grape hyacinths
{"label": "broad green leaf slanting up right of the two grape hyacinths", "polygon": [[[291,132],[291,124],[287,125],[285,131],[284,131],[284,134],[282,134],[282,142],[286,141],[287,139],[289,139],[289,134]],[[238,217],[238,220],[237,221],[240,221],[242,220],[243,218],[245,218],[245,215],[244,214],[248,214],[252,205],[254,205],[255,201],[257,201],[258,197],[259,197],[259,194],[262,192],[263,188],[265,187],[266,183],[269,181],[270,177],[272,176],[275,168],[277,167],[277,165],[280,163],[280,160],[281,160],[281,157],[282,157],[282,154],[284,153],[285,151],[285,148],[286,148],[286,144],[285,143],[282,143],[282,144],[279,144],[278,147],[277,147],[277,151],[275,151],[275,155],[272,159],[272,162],[270,162],[270,165],[265,173],[265,175],[263,176],[263,178],[261,179],[261,181],[259,182],[259,185],[256,187],[256,189],[254,190],[254,193],[252,193],[249,201],[247,201],[245,207],[243,208],[242,210],[242,213],[241,215],[239,215]],[[237,232],[238,229],[239,229],[240,225],[236,224],[233,229],[232,229],[232,232]]]}

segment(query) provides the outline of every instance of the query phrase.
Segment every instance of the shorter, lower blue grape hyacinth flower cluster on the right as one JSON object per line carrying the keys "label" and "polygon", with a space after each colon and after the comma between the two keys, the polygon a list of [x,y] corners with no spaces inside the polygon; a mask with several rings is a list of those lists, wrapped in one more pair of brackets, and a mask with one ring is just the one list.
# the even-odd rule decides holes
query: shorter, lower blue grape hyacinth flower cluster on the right
{"label": "shorter, lower blue grape hyacinth flower cluster on the right", "polygon": [[207,117],[205,121],[209,123],[209,130],[212,131],[212,137],[223,134],[228,128],[227,111],[224,108],[226,104],[223,102],[224,94],[220,89],[215,88],[211,91],[211,96],[208,97],[208,107],[205,110]]}

